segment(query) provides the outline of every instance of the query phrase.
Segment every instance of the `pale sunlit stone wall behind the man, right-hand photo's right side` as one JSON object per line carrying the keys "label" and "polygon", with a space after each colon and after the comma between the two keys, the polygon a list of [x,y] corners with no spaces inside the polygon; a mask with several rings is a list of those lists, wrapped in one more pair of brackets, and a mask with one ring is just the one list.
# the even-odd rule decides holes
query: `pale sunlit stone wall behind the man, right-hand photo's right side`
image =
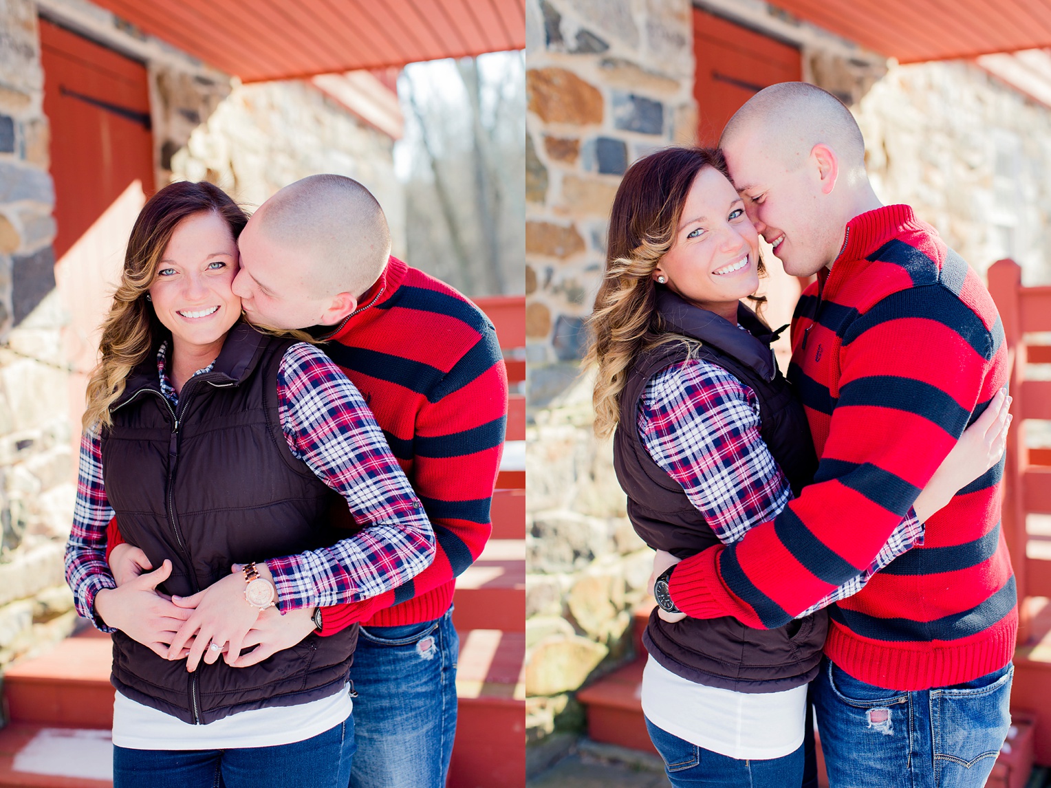
{"label": "pale sunlit stone wall behind the man, right-hand photo's right side", "polygon": [[1051,283],[1051,109],[973,63],[891,64],[852,107],[884,202],[908,203],[980,273]]}

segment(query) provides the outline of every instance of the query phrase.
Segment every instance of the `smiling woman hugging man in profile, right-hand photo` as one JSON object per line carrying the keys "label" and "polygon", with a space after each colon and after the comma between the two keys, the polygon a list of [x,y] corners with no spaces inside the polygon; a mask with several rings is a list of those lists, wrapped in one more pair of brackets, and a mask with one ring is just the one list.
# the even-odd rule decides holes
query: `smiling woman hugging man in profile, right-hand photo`
{"label": "smiling woman hugging man in profile, right-hand photo", "polygon": [[[628,169],[589,362],[595,429],[616,431],[618,479],[635,530],[659,551],[657,576],[772,519],[817,469],[802,406],[769,348],[779,332],[741,303],[760,300],[762,273],[756,229],[718,150],[665,149]],[[919,543],[923,520],[998,459],[1004,400],[965,434],[868,572],[787,626],[651,616],[642,707],[673,785],[801,784],[806,685],[827,628],[820,608]],[[661,600],[660,578],[656,586]]]}

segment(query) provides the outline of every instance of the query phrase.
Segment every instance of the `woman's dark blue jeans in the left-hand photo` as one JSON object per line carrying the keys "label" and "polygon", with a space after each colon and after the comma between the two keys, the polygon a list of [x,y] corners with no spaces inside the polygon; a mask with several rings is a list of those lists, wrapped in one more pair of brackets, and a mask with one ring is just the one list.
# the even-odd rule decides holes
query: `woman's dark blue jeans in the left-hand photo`
{"label": "woman's dark blue jeans in the left-hand photo", "polygon": [[353,717],[312,739],[273,747],[114,747],[114,788],[345,788],[353,755]]}

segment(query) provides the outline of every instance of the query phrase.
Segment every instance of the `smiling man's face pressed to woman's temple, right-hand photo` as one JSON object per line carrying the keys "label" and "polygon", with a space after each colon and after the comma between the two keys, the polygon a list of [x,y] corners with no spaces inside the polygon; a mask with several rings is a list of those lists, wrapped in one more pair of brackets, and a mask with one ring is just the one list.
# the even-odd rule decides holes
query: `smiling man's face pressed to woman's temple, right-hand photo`
{"label": "smiling man's face pressed to woman's temple, right-hand photo", "polygon": [[812,158],[785,162],[758,134],[738,134],[723,148],[748,217],[792,276],[809,276],[836,257],[843,227],[830,227]]}

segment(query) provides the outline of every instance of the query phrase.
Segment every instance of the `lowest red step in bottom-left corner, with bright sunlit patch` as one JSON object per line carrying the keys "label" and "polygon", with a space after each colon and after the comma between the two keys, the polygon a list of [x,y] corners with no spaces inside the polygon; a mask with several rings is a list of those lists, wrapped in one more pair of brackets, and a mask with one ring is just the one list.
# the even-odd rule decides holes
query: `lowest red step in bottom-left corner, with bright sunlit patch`
{"label": "lowest red step in bottom-left corner, with bright sunlit patch", "polygon": [[3,788],[112,788],[109,730],[12,723],[0,730]]}

